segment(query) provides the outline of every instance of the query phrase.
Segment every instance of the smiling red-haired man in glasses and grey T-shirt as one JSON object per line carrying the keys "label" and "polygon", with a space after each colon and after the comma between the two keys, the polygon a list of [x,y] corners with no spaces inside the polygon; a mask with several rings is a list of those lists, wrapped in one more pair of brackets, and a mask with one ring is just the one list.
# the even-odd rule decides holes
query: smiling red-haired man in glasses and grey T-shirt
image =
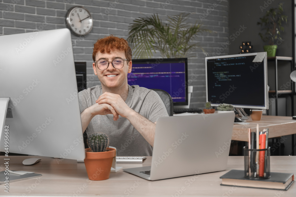
{"label": "smiling red-haired man in glasses and grey T-shirt", "polygon": [[79,92],[83,131],[102,132],[119,156],[151,156],[155,123],[168,116],[156,92],[130,86],[131,48],[123,38],[108,36],[94,44],[93,69],[101,85]]}

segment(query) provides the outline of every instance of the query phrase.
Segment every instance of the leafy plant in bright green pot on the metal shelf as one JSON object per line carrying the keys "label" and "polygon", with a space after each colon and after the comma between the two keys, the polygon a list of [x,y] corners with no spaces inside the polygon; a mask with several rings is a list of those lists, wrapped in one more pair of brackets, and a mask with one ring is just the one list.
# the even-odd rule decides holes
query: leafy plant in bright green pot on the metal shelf
{"label": "leafy plant in bright green pot on the metal shelf", "polygon": [[284,32],[284,27],[282,22],[287,23],[287,17],[283,14],[283,4],[279,3],[277,8],[271,8],[266,10],[263,17],[260,18],[260,22],[257,25],[263,27],[262,32],[259,33],[261,39],[264,43],[269,45],[264,45],[264,51],[267,52],[267,57],[274,57],[276,55],[276,41],[283,41],[281,38],[281,32]]}

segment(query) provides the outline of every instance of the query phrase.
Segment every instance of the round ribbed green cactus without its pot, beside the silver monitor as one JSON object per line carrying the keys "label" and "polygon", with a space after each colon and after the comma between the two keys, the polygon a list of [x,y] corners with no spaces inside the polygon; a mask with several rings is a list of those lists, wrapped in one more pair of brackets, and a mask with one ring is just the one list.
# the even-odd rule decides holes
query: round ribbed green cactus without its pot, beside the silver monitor
{"label": "round ribbed green cactus without its pot, beside the silver monitor", "polygon": [[92,152],[105,152],[109,147],[109,138],[105,133],[93,133],[87,139]]}

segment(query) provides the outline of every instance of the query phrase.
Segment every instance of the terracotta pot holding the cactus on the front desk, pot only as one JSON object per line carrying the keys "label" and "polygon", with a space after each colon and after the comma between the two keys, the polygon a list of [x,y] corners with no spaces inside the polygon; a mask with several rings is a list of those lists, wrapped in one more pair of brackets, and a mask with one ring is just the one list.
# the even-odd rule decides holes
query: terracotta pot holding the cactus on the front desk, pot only
{"label": "terracotta pot holding the cactus on the front desk, pot only", "polygon": [[89,152],[85,149],[84,164],[89,180],[106,180],[110,176],[115,149],[107,148],[105,152]]}

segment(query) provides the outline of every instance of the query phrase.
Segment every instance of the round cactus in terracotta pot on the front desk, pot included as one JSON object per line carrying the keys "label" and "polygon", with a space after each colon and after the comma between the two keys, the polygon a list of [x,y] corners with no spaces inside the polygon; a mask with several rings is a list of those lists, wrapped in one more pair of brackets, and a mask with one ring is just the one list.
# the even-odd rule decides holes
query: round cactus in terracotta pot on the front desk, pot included
{"label": "round cactus in terracotta pot on the front desk, pot included", "polygon": [[88,137],[84,164],[90,180],[106,180],[110,176],[115,149],[109,148],[109,138],[105,133],[93,133]]}

